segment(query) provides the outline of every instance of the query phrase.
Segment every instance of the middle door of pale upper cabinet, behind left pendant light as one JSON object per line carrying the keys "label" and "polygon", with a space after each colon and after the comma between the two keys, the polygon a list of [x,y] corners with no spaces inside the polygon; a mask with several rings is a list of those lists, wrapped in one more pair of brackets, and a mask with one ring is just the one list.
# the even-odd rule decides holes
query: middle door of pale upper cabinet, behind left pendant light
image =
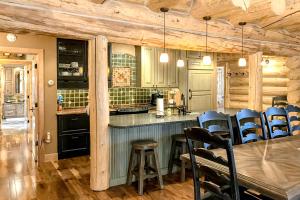
{"label": "middle door of pale upper cabinet, behind left pendant light", "polygon": [[[155,86],[157,87],[168,87],[168,65],[169,63],[160,62],[160,54],[163,53],[163,49],[155,49]],[[169,55],[170,62],[170,55]]]}

